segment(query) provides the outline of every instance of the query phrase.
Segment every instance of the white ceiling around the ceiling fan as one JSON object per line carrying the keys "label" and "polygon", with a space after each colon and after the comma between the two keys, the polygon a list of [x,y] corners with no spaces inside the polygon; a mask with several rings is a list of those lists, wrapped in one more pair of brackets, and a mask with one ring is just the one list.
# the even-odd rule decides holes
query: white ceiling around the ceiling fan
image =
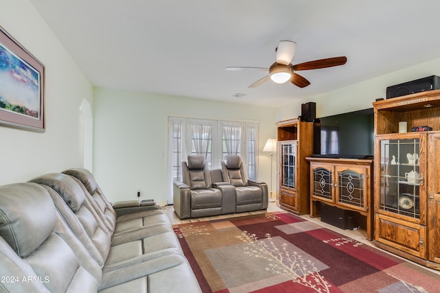
{"label": "white ceiling around the ceiling fan", "polygon": [[[91,82],[110,89],[283,106],[440,57],[438,0],[30,1]],[[269,67],[280,40],[297,43],[293,64],[348,61],[298,71],[304,89],[248,89],[265,72],[225,71]]]}

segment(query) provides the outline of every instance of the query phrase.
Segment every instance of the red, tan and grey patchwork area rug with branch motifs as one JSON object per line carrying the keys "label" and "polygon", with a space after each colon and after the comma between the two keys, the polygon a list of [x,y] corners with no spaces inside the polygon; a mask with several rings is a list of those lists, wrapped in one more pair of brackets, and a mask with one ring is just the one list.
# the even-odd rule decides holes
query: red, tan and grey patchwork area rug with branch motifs
{"label": "red, tan and grey patchwork area rug with branch motifs", "polygon": [[440,276],[291,213],[174,226],[203,292],[440,292]]}

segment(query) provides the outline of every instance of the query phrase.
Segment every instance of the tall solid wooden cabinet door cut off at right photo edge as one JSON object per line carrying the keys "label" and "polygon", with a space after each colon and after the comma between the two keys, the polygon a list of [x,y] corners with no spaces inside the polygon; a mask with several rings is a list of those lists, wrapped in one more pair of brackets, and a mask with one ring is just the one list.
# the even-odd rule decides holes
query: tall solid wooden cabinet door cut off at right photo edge
{"label": "tall solid wooden cabinet door cut off at right photo edge", "polygon": [[428,145],[428,259],[440,263],[440,134],[430,134]]}

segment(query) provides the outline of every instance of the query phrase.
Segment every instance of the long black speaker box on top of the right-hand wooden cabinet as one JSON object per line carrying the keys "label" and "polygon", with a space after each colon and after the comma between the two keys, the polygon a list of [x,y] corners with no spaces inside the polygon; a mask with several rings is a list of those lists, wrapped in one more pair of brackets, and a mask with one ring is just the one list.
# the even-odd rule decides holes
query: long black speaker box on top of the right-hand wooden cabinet
{"label": "long black speaker box on top of the right-hand wooden cabinet", "polygon": [[386,98],[390,99],[391,97],[400,97],[411,93],[420,93],[421,91],[432,91],[433,89],[440,89],[440,78],[437,75],[388,86],[386,88]]}

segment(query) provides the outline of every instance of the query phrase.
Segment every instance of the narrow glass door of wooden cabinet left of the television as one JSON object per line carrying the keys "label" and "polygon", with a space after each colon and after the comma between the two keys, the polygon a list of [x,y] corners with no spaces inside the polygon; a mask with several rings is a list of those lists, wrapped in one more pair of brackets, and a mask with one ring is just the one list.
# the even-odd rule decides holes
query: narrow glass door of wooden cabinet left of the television
{"label": "narrow glass door of wooden cabinet left of the television", "polygon": [[296,189],[297,141],[281,142],[281,186]]}

